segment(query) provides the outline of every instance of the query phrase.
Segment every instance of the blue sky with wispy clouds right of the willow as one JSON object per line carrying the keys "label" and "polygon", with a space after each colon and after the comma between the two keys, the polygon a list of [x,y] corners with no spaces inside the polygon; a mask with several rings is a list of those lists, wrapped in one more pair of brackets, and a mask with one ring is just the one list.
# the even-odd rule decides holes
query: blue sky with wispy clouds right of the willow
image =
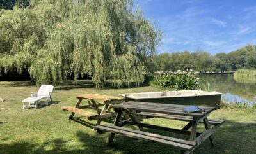
{"label": "blue sky with wispy clouds right of the willow", "polygon": [[256,0],[138,0],[146,18],[161,29],[158,52],[212,55],[256,44]]}

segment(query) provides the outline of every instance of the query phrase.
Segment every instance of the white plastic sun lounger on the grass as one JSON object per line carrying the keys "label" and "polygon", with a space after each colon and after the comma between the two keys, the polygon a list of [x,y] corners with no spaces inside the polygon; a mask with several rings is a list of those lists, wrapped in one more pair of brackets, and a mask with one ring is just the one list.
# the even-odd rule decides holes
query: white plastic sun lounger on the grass
{"label": "white plastic sun lounger on the grass", "polygon": [[[25,107],[31,108],[31,107],[38,107],[38,101],[40,99],[47,99],[47,102],[45,102],[46,105],[48,105],[49,99],[52,102],[52,85],[41,85],[38,92],[31,92],[31,97],[28,97],[22,101],[23,103],[23,109]],[[28,106],[26,106],[26,102],[29,103]]]}

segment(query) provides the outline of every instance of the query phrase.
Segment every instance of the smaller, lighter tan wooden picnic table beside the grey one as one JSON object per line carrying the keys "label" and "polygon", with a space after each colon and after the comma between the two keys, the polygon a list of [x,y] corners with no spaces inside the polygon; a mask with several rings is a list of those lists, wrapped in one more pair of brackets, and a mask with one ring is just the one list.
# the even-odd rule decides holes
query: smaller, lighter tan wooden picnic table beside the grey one
{"label": "smaller, lighter tan wooden picnic table beside the grey one", "polygon": [[[116,114],[111,112],[111,104],[118,104],[124,101],[122,97],[114,97],[109,95],[99,95],[99,94],[80,94],[76,95],[76,105],[72,106],[62,106],[63,111],[71,111],[68,119],[72,119],[75,113],[83,116],[87,116],[88,120],[97,120],[96,125],[99,125],[102,119],[113,117]],[[88,105],[80,106],[81,102],[85,99]],[[97,101],[100,100],[100,101]],[[103,108],[99,108],[103,106]],[[93,109],[97,113],[91,111],[86,111],[84,109]]]}

